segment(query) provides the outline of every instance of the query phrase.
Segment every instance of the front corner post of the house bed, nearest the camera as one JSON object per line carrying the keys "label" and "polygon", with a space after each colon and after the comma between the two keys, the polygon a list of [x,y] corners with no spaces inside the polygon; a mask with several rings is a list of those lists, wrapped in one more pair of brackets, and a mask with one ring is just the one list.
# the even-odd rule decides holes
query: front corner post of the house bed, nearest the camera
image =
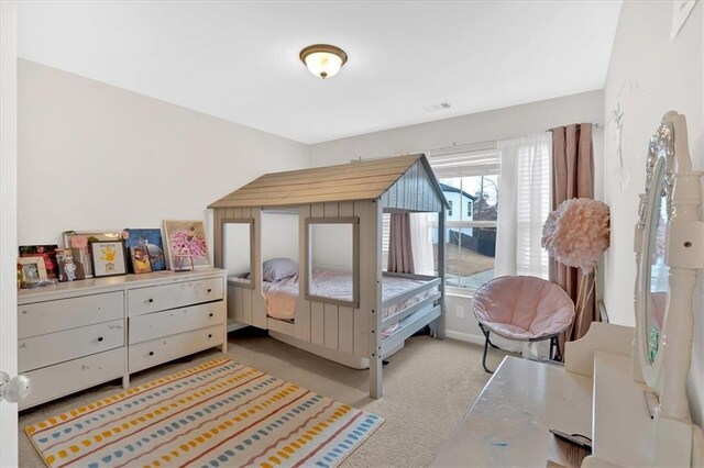
{"label": "front corner post of the house bed, nearest the camera", "polygon": [[[372,200],[370,203],[369,224],[364,230],[364,235],[370,236],[372,252],[369,259],[376,275],[364,278],[364,294],[371,297],[372,311],[370,313],[370,397],[382,398],[384,395],[383,386],[383,364],[382,364],[382,225],[383,209],[381,200]],[[361,253],[367,255],[367,253]],[[359,261],[359,259],[358,259]]]}

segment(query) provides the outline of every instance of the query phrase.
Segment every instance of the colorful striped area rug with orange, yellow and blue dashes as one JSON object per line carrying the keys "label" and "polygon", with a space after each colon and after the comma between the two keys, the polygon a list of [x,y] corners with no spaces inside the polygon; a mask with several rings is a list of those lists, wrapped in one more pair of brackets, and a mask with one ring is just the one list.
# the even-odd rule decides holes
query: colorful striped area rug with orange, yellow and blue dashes
{"label": "colorful striped area rug with orange, yellow and blue dashes", "polygon": [[220,358],[25,432],[50,467],[333,467],[383,422]]}

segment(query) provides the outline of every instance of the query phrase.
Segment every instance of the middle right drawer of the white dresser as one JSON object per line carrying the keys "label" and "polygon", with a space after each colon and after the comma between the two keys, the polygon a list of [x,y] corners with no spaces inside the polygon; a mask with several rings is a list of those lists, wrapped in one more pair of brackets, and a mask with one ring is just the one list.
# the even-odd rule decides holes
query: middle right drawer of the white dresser
{"label": "middle right drawer of the white dresser", "polygon": [[224,301],[131,316],[130,345],[224,323]]}

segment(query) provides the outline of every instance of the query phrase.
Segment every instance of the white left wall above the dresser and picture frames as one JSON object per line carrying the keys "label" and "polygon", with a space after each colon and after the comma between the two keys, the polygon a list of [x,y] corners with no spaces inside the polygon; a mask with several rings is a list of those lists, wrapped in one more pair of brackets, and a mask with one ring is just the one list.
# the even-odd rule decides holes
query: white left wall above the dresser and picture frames
{"label": "white left wall above the dresser and picture frames", "polygon": [[20,244],[205,219],[255,177],[308,163],[308,145],[19,60]]}

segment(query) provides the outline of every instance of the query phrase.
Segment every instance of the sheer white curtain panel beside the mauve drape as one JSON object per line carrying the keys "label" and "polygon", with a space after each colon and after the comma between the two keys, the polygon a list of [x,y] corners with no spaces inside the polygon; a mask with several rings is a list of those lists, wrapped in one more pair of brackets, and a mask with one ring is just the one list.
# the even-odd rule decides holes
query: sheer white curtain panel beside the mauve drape
{"label": "sheer white curtain panel beside the mauve drape", "polygon": [[501,190],[496,276],[548,278],[542,224],[550,212],[551,138],[540,133],[498,142]]}

